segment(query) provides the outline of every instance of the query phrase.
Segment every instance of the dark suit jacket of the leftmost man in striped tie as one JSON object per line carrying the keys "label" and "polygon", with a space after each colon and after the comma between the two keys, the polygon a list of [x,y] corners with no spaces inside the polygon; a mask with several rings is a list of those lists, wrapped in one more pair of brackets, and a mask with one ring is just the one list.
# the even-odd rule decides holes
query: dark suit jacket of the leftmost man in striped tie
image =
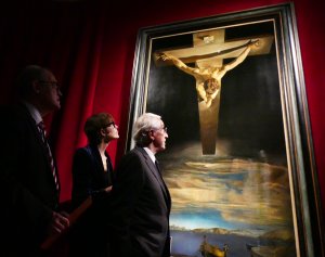
{"label": "dark suit jacket of the leftmost man in striped tie", "polygon": [[58,192],[47,149],[25,105],[3,107],[0,116],[0,253],[38,256]]}

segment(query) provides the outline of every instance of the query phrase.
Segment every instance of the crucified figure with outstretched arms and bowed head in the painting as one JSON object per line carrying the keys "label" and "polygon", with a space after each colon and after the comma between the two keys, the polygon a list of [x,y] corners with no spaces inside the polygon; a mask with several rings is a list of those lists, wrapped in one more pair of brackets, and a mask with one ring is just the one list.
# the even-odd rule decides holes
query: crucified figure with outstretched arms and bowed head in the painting
{"label": "crucified figure with outstretched arms and bowed head in the painting", "polygon": [[[207,107],[210,107],[212,100],[218,95],[221,88],[221,79],[227,70],[233,69],[239,65],[248,55],[252,47],[258,47],[259,40],[249,40],[243,47],[245,50],[234,61],[222,65],[221,67],[190,67],[181,60],[173,55],[162,52],[158,59],[162,61],[171,61],[178,68],[194,76],[196,79],[196,91],[198,94],[198,102],[204,101]],[[237,50],[237,48],[235,49]]]}

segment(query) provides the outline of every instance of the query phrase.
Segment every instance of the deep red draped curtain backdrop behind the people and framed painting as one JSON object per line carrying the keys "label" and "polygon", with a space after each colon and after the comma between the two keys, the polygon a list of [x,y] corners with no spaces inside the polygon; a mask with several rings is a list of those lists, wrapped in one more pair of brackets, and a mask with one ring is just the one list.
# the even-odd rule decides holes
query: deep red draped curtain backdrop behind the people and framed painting
{"label": "deep red draped curtain backdrop behind the people and framed painting", "polygon": [[[70,198],[70,166],[92,113],[109,112],[120,139],[108,146],[118,162],[125,150],[133,54],[138,29],[171,22],[277,4],[282,0],[10,1],[0,10],[0,102],[14,99],[14,78],[27,64],[48,66],[62,83],[62,110],[51,127],[62,181]],[[321,0],[295,0],[299,43],[325,206],[325,15]],[[1,126],[5,126],[4,120]]]}

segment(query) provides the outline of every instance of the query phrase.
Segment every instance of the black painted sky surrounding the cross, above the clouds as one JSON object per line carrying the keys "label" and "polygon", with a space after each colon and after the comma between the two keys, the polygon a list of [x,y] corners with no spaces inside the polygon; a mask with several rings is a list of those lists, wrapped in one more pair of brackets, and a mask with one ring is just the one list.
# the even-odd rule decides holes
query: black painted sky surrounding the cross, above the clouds
{"label": "black painted sky surrounding the cross, above the clouds", "polygon": [[[258,35],[273,35],[273,23],[226,28],[225,40]],[[154,39],[152,52],[191,46],[191,34]],[[169,145],[199,141],[196,99],[195,79],[191,75],[174,66],[157,67],[152,61],[146,111],[162,116],[169,129]],[[257,157],[262,150],[274,158],[282,156],[285,162],[274,43],[270,54],[248,56],[222,78],[218,138],[231,142],[234,156]]]}

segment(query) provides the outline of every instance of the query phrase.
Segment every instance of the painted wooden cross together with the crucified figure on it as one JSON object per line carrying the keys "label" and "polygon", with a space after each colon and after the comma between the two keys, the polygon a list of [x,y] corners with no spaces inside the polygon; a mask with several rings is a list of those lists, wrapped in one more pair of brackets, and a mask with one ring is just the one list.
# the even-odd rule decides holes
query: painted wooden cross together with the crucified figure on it
{"label": "painted wooden cross together with the crucified figure on it", "polygon": [[[156,60],[170,61],[196,80],[203,154],[216,153],[221,79],[248,55],[270,52],[273,36],[224,42],[224,29],[193,34],[193,47],[156,53]],[[227,64],[223,59],[234,57]],[[184,61],[182,61],[184,60]],[[194,62],[195,67],[184,62]]]}

